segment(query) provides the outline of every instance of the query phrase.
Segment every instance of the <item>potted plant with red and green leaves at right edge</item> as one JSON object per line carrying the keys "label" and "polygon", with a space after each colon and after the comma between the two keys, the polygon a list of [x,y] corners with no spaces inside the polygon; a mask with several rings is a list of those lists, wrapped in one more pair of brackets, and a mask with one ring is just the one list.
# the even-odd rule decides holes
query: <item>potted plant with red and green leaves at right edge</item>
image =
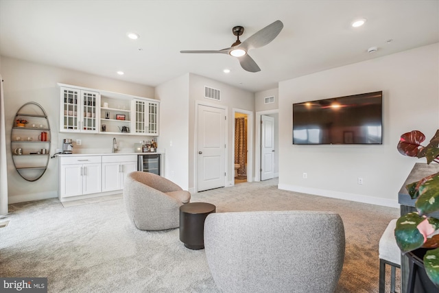
{"label": "potted plant with red and green leaves at right edge", "polygon": [[[439,163],[439,130],[427,146],[421,145],[425,135],[413,130],[401,135],[398,150],[405,156],[426,158],[427,164]],[[416,199],[416,212],[401,216],[396,222],[395,238],[402,253],[428,248],[423,266],[429,279],[439,288],[439,172],[405,186]]]}

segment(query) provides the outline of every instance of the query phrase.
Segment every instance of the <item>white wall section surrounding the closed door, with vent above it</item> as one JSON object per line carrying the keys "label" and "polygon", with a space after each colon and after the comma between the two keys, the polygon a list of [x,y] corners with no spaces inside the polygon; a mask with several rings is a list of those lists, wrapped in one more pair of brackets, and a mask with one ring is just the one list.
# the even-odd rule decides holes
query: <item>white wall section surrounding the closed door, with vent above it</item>
{"label": "white wall section surrounding the closed door, with vent above it", "polygon": [[[204,98],[204,86],[209,86],[213,89],[221,91],[221,101]],[[235,176],[235,159],[232,156],[232,141],[233,128],[235,127],[235,119],[233,115],[233,108],[241,110],[254,111],[254,93],[238,89],[235,86],[230,86],[216,80],[204,78],[200,75],[190,74],[189,77],[189,188],[191,191],[195,190],[195,101],[217,104],[219,106],[227,107],[227,166],[226,173],[228,182],[233,182]]]}

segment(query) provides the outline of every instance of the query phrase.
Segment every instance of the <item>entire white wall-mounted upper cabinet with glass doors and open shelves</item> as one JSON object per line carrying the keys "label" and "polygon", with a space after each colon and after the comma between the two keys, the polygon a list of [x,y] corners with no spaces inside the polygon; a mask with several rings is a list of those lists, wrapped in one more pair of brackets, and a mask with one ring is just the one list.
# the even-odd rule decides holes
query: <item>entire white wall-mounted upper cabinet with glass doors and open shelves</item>
{"label": "entire white wall-mounted upper cabinet with glass doors and open shelves", "polygon": [[159,101],[58,85],[61,87],[60,132],[158,135]]}

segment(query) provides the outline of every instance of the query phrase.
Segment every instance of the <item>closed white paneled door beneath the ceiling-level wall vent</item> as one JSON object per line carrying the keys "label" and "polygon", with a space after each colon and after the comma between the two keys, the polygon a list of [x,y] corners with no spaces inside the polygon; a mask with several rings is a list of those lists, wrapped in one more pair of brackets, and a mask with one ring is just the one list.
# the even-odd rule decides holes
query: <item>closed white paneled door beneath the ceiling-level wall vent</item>
{"label": "closed white paneled door beneath the ceiling-level wall vent", "polygon": [[224,187],[225,110],[198,105],[198,191]]}

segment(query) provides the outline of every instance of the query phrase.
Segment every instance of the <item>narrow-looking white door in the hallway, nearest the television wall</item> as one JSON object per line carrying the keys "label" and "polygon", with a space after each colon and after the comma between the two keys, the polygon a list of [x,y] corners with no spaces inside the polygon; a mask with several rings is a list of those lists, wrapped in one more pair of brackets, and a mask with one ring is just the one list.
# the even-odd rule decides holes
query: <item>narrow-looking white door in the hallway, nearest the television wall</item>
{"label": "narrow-looking white door in the hallway, nearest the television wall", "polygon": [[274,178],[274,117],[261,115],[261,180]]}

